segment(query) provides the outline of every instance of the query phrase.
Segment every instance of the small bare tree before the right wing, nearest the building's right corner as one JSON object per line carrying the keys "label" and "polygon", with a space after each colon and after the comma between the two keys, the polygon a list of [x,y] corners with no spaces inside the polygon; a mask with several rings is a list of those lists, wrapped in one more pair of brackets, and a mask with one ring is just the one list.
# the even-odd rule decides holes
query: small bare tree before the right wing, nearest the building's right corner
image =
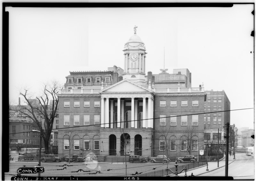
{"label": "small bare tree before the right wing, nearest the building's right corner", "polygon": [[[190,155],[193,147],[193,141],[197,138],[197,130],[196,127],[193,126],[187,126],[185,130],[182,131],[183,136],[182,138],[186,140],[186,148]],[[198,142],[197,142],[198,144]]]}

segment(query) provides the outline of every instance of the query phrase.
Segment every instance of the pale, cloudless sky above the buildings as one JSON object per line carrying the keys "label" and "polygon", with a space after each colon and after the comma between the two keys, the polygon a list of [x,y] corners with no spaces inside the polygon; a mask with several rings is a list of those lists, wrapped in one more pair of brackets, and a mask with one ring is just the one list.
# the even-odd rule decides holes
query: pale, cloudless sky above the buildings
{"label": "pale, cloudless sky above the buildings", "polygon": [[[145,43],[146,72],[188,68],[192,87],[224,90],[232,109],[254,107],[253,4],[231,8],[8,7],[9,102],[24,87],[40,95],[46,82],[66,82],[69,71],[124,68],[124,44]],[[252,53],[251,53],[252,52]],[[165,65],[164,65],[165,60]],[[24,100],[21,100],[24,104]],[[230,123],[254,127],[254,110],[231,111]]]}

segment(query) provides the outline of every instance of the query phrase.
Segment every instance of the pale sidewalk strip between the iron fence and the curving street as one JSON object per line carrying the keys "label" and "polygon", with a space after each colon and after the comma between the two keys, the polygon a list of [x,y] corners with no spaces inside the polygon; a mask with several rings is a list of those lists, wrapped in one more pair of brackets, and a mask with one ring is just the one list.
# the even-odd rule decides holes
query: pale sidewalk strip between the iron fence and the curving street
{"label": "pale sidewalk strip between the iron fence and the curving street", "polygon": [[[228,155],[228,159],[229,159],[228,164],[230,164],[230,163],[232,163],[232,162],[234,162],[236,160],[236,159],[231,160],[231,159],[233,159],[233,157],[234,157],[233,155],[231,155],[231,156]],[[225,167],[225,155],[219,161],[219,168],[221,168],[221,167]],[[189,169],[187,171],[187,176],[190,176],[191,173],[193,173],[194,176],[200,176],[200,175],[202,175],[204,173],[211,172],[213,170],[217,170],[217,169],[219,169],[218,168],[218,162],[208,162],[208,170],[209,171],[206,171],[206,168],[207,168],[207,165],[204,165],[204,166],[201,166],[201,167],[197,167],[197,168],[194,168],[194,169]],[[173,176],[173,175],[174,174],[170,174],[170,176]],[[180,176],[180,177],[182,177],[184,175],[185,175],[184,171],[181,172],[180,174],[178,174],[178,176]]]}

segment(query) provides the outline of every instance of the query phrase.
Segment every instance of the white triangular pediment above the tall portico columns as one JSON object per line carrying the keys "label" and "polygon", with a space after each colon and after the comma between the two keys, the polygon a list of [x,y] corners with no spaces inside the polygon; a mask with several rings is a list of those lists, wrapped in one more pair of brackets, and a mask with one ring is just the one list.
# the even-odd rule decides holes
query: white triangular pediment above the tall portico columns
{"label": "white triangular pediment above the tall portico columns", "polygon": [[121,80],[120,82],[117,82],[116,84],[107,87],[103,90],[101,90],[100,92],[102,93],[107,93],[107,92],[152,92],[149,89],[140,86],[139,84],[136,84],[130,80],[124,79]]}

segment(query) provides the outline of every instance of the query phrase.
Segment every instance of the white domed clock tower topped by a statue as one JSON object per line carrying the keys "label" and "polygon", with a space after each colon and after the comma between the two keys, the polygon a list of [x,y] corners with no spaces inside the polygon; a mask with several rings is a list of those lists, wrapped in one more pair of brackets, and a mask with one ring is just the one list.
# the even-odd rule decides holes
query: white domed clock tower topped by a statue
{"label": "white domed clock tower topped by a statue", "polygon": [[134,27],[134,34],[130,37],[129,41],[124,44],[123,79],[129,79],[139,85],[145,85],[145,60],[147,53],[145,44],[136,34],[136,28],[137,26]]}

